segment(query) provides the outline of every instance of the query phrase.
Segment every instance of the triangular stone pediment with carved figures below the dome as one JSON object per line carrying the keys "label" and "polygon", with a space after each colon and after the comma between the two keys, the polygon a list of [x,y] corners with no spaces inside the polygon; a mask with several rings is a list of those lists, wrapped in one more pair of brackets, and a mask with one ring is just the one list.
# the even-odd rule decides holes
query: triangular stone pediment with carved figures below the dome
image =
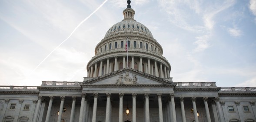
{"label": "triangular stone pediment with carved figures below the dome", "polygon": [[123,84],[123,85],[174,85],[173,82],[168,81],[163,78],[152,76],[147,73],[143,73],[134,69],[125,68],[117,70],[112,73],[108,73],[103,76],[99,76],[90,80],[84,81],[83,84],[92,85],[113,85],[113,84]]}

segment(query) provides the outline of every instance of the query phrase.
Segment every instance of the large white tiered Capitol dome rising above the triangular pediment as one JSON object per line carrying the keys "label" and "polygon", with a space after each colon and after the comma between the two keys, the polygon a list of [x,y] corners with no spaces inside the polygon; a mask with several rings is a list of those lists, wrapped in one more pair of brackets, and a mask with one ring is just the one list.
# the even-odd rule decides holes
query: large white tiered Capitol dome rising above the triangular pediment
{"label": "large white tiered Capitol dome rising above the triangular pediment", "polygon": [[160,78],[170,77],[171,66],[162,56],[162,46],[145,25],[134,20],[134,15],[135,11],[127,5],[123,20],[107,30],[87,64],[87,77],[103,76],[126,67]]}

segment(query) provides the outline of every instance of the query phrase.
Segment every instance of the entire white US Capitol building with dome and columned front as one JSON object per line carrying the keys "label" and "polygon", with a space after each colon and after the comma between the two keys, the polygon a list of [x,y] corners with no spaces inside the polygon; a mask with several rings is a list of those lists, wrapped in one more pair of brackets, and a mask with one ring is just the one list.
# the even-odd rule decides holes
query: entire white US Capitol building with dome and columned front
{"label": "entire white US Capitol building with dome and columned front", "polygon": [[256,122],[256,88],[173,82],[162,46],[127,3],[83,82],[0,86],[0,122]]}

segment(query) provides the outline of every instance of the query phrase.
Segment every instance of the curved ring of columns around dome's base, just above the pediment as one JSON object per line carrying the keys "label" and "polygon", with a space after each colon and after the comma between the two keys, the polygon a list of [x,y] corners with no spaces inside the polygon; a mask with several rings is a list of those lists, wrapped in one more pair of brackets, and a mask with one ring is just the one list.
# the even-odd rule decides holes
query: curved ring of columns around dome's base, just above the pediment
{"label": "curved ring of columns around dome's base, just above the pediment", "polygon": [[[160,78],[170,77],[170,69],[168,66],[156,59],[150,59],[142,56],[129,56],[128,59],[128,67],[132,69]],[[102,76],[126,67],[127,56],[115,56],[113,58],[103,59],[90,65],[87,70],[87,77]]]}

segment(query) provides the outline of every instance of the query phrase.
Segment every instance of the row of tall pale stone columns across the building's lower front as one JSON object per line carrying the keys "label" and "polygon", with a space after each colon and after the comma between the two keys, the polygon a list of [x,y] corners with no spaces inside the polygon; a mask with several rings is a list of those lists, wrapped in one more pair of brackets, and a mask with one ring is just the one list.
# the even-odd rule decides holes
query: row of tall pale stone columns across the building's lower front
{"label": "row of tall pale stone columns across the building's lower front", "polygon": [[[136,93],[132,93],[132,103],[133,103],[133,114],[132,114],[132,120],[133,122],[136,122]],[[158,107],[159,107],[159,122],[163,122],[163,109],[162,109],[162,93],[158,93]],[[99,94],[98,93],[93,93],[94,101],[93,101],[93,114],[92,114],[92,122],[96,122],[96,110],[97,110],[97,99],[98,99]],[[124,93],[119,93],[119,122],[123,122],[123,96]],[[149,96],[150,93],[145,93],[144,94],[144,113],[145,113],[145,122],[150,122],[150,107],[149,107]],[[170,97],[168,99],[168,114],[170,113],[170,117],[168,119],[171,119],[171,122],[177,122],[176,119],[176,109],[175,109],[175,102],[174,102],[174,94],[170,94]],[[37,106],[34,112],[34,118],[32,122],[37,122],[37,117],[39,114],[40,110],[40,104],[42,102],[42,96],[38,96],[38,102]],[[49,96],[50,101],[49,101],[49,106],[47,109],[47,115],[46,115],[46,120],[45,122],[49,122],[50,119],[50,112],[52,108],[52,103],[53,103],[53,96]],[[79,115],[79,122],[86,122],[88,118],[88,108],[89,105],[87,105],[88,100],[86,97],[86,93],[81,94],[81,106],[80,106],[80,115]],[[111,113],[111,104],[110,104],[110,98],[111,98],[111,93],[106,93],[106,118],[105,122],[110,122],[110,113]],[[61,122],[61,116],[62,116],[62,111],[63,111],[63,103],[65,100],[65,96],[60,96],[61,102],[60,102],[60,110],[59,110],[59,116],[57,122]],[[70,122],[73,122],[74,120],[74,112],[75,112],[75,103],[76,103],[76,96],[72,96],[73,102],[72,102],[72,108],[71,108],[71,113],[70,113]],[[195,122],[198,121],[198,116],[197,116],[197,108],[196,108],[196,97],[191,97],[192,104],[193,104],[193,115]],[[207,103],[208,97],[203,97],[203,102],[205,105],[205,112],[206,112],[206,119],[207,122],[211,122],[210,114],[209,114],[209,107]],[[223,117],[223,112],[219,103],[219,98],[215,99],[216,101],[216,106],[217,106],[217,111],[219,115],[219,122],[224,122],[224,117]],[[185,115],[185,108],[184,108],[184,97],[180,97],[180,106],[181,106],[181,117],[182,117],[182,122],[186,122],[186,115]]]}

